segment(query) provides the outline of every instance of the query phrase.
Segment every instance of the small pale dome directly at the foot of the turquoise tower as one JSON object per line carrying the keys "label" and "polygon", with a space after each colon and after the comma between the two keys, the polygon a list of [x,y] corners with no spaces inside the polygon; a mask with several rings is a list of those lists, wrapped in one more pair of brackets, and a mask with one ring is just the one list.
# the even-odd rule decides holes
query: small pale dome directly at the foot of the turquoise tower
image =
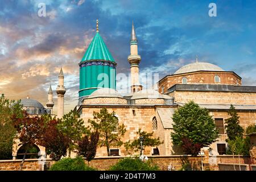
{"label": "small pale dome directly at the foot of the turquoise tower", "polygon": [[95,90],[92,94],[90,94],[88,98],[95,98],[95,97],[122,97],[122,96],[115,89],[101,88],[101,89]]}

